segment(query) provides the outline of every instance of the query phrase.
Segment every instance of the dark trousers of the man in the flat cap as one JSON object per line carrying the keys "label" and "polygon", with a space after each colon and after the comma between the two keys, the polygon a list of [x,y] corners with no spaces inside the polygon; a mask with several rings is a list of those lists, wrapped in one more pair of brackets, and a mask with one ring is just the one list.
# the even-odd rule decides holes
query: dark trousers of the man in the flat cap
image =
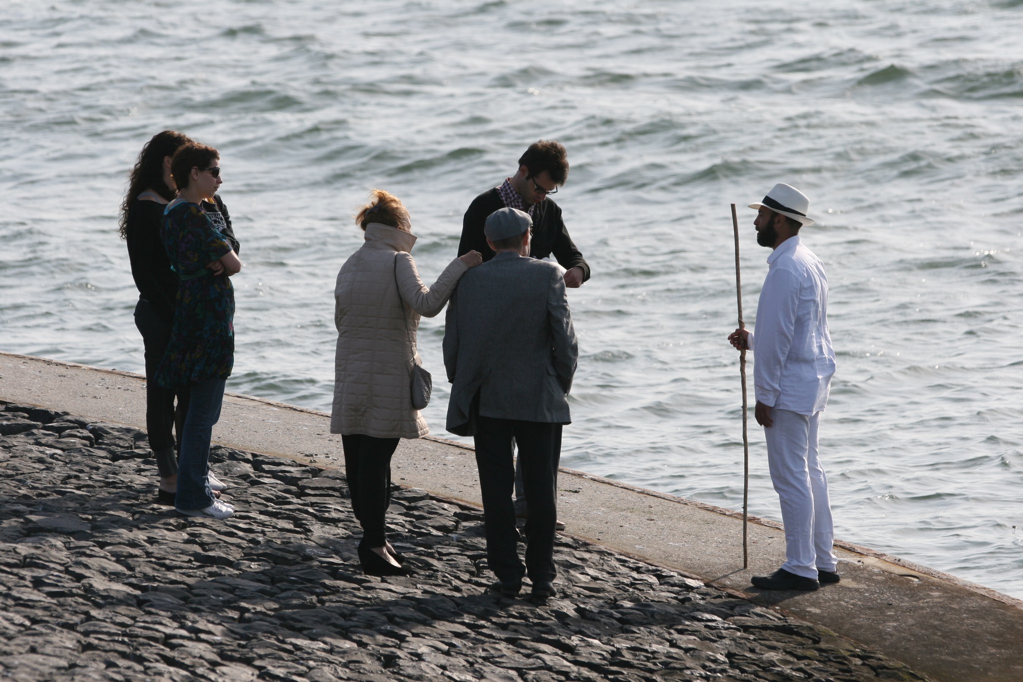
{"label": "dark trousers of the man in the flat cap", "polygon": [[[476,465],[480,471],[487,562],[498,580],[533,583],[553,580],[554,522],[558,520],[558,464],[562,424],[477,417]],[[519,446],[529,519],[526,521],[526,566],[519,560],[516,532],[515,461],[511,439]]]}

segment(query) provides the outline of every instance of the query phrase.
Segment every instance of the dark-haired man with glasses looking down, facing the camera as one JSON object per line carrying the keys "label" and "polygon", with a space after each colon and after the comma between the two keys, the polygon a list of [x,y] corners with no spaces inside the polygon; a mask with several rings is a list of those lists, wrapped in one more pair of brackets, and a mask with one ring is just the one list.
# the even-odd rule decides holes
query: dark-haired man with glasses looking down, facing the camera
{"label": "dark-haired man with glasses looking down, facing the camera", "polygon": [[483,192],[469,206],[461,221],[461,241],[458,256],[471,251],[483,254],[486,263],[494,257],[487,246],[483,226],[487,217],[498,209],[525,211],[533,221],[533,237],[529,255],[544,259],[553,255],[565,268],[565,285],[581,286],[589,279],[589,265],[576,248],[562,220],[562,210],[550,194],[565,184],[569,176],[569,161],[565,146],[553,140],[539,140],[529,145],[519,160],[519,171],[503,184]]}

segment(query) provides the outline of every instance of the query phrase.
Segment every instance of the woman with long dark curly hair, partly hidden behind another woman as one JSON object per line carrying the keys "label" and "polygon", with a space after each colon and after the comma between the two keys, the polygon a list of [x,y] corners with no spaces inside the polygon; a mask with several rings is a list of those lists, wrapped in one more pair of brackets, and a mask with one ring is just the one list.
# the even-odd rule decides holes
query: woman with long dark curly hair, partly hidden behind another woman
{"label": "woman with long dark curly hair, partly hidden behind another woman", "polygon": [[[165,389],[157,383],[157,366],[164,357],[174,322],[174,301],[178,294],[178,275],[171,270],[167,251],[160,238],[164,208],[174,199],[177,187],[171,176],[171,157],[178,148],[191,142],[183,133],[165,130],[149,139],[139,152],[129,175],[128,191],[121,203],[121,237],[128,242],[131,274],[138,288],[135,326],[145,348],[145,425],[149,447],[157,459],[160,487],[157,501],[174,504],[177,491],[178,461],[174,430],[177,423],[178,445],[181,421],[188,406],[188,390]],[[219,226],[218,231],[237,254],[238,240],[231,229],[231,218],[219,194],[204,197],[203,209]],[[175,415],[177,399],[177,418]],[[224,484],[211,479],[214,490]]]}

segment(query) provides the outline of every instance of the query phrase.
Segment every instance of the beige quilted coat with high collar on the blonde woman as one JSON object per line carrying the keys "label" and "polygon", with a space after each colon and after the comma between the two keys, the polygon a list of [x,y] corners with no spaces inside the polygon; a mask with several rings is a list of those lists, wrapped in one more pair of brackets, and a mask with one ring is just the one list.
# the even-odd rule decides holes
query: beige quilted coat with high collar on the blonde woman
{"label": "beige quilted coat with high collar on the blonde woman", "polygon": [[413,356],[421,362],[415,331],[420,315],[434,317],[444,309],[469,267],[454,259],[428,288],[408,253],[414,243],[404,230],[370,223],[365,242],[338,273],[331,434],[421,438],[430,433],[409,395]]}

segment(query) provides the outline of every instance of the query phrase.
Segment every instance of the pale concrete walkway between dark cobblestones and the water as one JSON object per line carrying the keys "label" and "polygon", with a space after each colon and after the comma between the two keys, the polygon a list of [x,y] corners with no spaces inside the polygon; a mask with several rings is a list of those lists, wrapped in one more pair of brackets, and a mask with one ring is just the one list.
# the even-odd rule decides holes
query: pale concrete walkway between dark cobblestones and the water
{"label": "pale concrete walkway between dark cobblestones and the water", "polygon": [[[144,428],[142,377],[0,353],[0,400]],[[214,439],[232,448],[344,467],[328,415],[229,394]],[[470,448],[402,441],[395,482],[479,505]],[[559,516],[568,533],[667,566],[762,605],[824,626],[935,680],[1023,680],[1023,602],[952,576],[839,543],[842,582],[812,593],[760,592],[753,574],[784,558],[776,524],[753,519],[744,571],[741,514],[563,469]]]}

